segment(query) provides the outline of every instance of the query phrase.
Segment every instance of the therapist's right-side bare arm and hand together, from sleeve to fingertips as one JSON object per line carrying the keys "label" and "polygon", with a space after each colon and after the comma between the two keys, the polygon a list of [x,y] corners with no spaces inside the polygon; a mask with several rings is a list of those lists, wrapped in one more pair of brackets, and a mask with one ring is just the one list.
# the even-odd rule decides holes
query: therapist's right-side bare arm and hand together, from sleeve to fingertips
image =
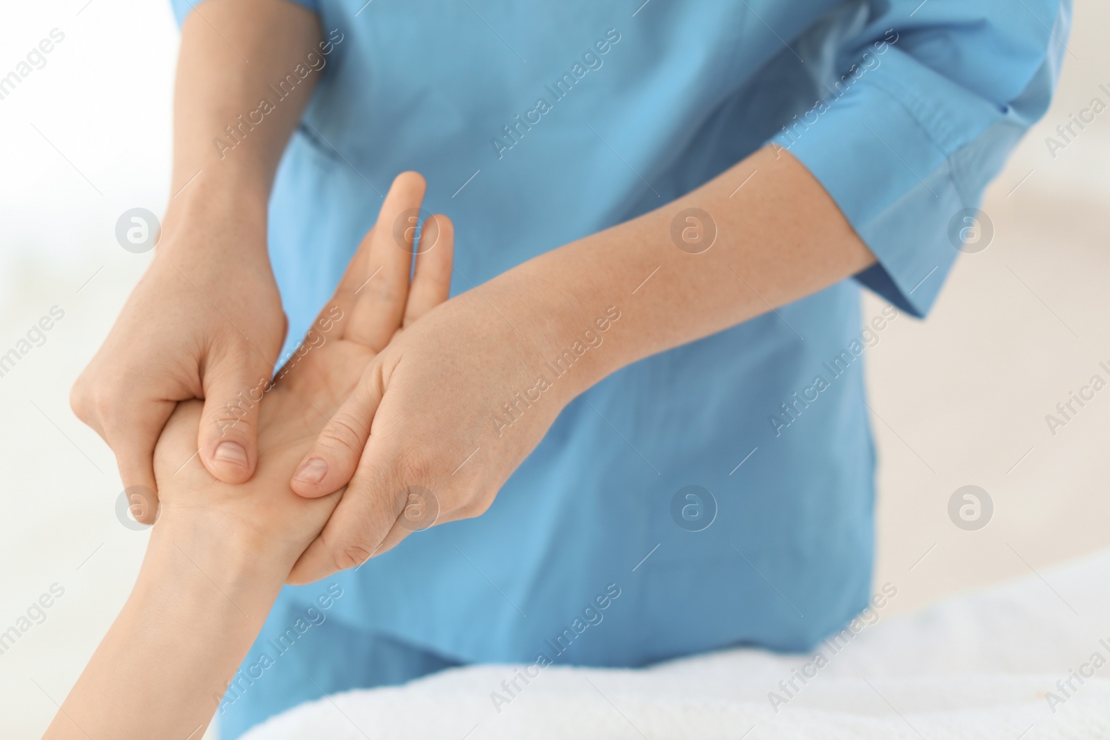
{"label": "therapist's right-side bare arm and hand together, from sleeve to fingertips", "polygon": [[[698,254],[672,239],[676,219],[680,227],[698,227],[678,217],[689,207],[709,214],[717,229]],[[291,582],[357,566],[401,541],[412,526],[393,513],[414,486],[432,491],[435,524],[478,516],[563,407],[602,378],[874,261],[809,171],[766,148],[673,203],[447,301],[370,363],[305,455],[293,490],[313,497],[346,486],[346,493]],[[609,306],[620,317],[604,344],[585,352],[539,401],[519,405],[512,425],[498,424],[503,404],[534,387],[544,363],[594,328]]]}

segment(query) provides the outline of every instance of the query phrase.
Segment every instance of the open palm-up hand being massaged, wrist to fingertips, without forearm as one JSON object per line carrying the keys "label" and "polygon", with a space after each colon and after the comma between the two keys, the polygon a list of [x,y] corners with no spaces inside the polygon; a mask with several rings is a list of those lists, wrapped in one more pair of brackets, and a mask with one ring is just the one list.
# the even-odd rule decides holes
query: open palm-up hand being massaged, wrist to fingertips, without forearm
{"label": "open palm-up hand being massaged, wrist to fingertips, without forearm", "polygon": [[252,555],[284,562],[282,577],[289,572],[342,495],[295,496],[289,487],[294,467],[367,363],[402,334],[402,326],[447,297],[454,243],[451,221],[436,215],[425,222],[411,286],[411,242],[398,245],[393,236],[393,224],[404,211],[418,209],[423,195],[424,180],[418,174],[397,176],[379,223],[363,239],[334,297],[265,391],[259,404],[258,473],[251,480],[222,483],[190,459],[198,425],[203,426],[204,418],[200,403],[178,405],[154,455],[162,496],[160,527],[172,523],[174,531],[240,543]]}

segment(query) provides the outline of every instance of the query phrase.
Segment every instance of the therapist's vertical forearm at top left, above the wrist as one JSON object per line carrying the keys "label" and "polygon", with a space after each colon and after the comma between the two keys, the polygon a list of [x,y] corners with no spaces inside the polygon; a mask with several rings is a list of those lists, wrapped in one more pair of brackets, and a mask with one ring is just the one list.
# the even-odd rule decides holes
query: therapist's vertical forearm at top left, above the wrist
{"label": "therapist's vertical forearm at top left, above the wrist", "polygon": [[315,14],[286,0],[206,0],[186,16],[168,217],[220,204],[264,217],[282,151],[326,64],[322,43]]}

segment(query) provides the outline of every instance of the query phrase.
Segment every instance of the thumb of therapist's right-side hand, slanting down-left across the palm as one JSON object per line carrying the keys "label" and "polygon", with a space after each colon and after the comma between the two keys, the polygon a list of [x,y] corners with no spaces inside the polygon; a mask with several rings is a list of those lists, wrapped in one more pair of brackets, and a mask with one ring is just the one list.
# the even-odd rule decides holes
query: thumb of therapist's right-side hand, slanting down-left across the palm
{"label": "thumb of therapist's right-side hand, slanting down-left across the palm", "polygon": [[382,364],[372,361],[293,473],[290,486],[296,494],[307,498],[326,496],[351,480],[370,439],[384,388]]}

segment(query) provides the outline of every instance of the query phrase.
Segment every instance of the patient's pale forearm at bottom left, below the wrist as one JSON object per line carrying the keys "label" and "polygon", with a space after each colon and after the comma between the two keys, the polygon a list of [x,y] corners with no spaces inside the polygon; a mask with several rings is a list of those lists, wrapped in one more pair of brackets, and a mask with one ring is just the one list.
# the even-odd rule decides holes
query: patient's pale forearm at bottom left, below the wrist
{"label": "patient's pale forearm at bottom left, below the wrist", "polygon": [[292,562],[163,526],[46,738],[200,738]]}

